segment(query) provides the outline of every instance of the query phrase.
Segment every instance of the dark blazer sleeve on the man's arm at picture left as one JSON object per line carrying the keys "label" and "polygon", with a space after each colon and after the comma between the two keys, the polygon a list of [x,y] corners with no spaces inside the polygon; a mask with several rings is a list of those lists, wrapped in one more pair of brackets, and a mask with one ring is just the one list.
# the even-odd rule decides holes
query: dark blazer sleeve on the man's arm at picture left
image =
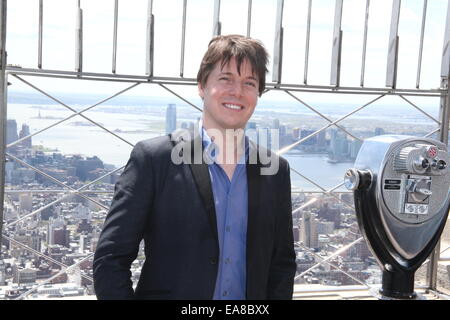
{"label": "dark blazer sleeve on the man's arm at picture left", "polygon": [[93,262],[98,299],[133,299],[131,263],[136,259],[152,205],[149,152],[139,142],[115,185]]}

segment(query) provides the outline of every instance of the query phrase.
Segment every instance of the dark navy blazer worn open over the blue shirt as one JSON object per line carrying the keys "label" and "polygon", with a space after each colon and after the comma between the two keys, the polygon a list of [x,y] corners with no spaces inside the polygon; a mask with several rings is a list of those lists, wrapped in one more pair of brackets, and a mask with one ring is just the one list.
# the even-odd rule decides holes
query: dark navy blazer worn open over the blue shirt
{"label": "dark navy blazer worn open over the blue shirt", "polygon": [[[201,138],[167,135],[133,148],[94,256],[98,299],[212,299],[219,242],[208,165],[173,163],[172,149],[180,143],[193,145]],[[257,154],[251,142],[249,159]],[[278,159],[275,175],[261,175],[260,161],[246,164],[249,300],[292,298],[296,263],[290,170],[285,159]],[[130,266],[142,239],[146,259],[133,290]]]}

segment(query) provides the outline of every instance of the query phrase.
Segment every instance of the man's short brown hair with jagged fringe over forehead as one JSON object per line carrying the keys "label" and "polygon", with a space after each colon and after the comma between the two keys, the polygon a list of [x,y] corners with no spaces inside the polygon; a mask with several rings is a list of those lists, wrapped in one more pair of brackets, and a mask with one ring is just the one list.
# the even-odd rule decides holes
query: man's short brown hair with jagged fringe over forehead
{"label": "man's short brown hair with jagged fringe over forehead", "polygon": [[237,34],[217,36],[209,42],[208,50],[203,56],[198,70],[197,82],[205,86],[216,63],[221,62],[223,68],[233,57],[236,59],[239,74],[242,62],[245,59],[250,62],[253,73],[256,74],[259,81],[258,91],[261,96],[266,86],[268,53],[260,41]]}

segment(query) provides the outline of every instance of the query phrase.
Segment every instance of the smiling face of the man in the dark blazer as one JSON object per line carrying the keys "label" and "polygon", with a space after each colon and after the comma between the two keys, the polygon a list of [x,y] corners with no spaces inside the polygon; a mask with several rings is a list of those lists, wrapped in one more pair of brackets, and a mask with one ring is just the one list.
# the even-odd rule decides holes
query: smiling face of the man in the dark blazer
{"label": "smiling face of the man in the dark blazer", "polygon": [[259,82],[251,64],[244,60],[238,73],[236,59],[221,68],[216,63],[204,86],[198,84],[203,98],[203,126],[206,129],[243,129],[258,102]]}

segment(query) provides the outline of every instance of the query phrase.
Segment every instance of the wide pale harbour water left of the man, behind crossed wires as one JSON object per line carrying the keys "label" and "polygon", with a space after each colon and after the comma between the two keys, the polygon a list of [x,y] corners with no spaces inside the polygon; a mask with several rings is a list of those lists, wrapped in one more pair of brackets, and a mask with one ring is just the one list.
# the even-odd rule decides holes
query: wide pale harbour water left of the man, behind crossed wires
{"label": "wide pale harbour water left of the man, behind crossed wires", "polygon": [[[39,114],[41,118],[38,117]],[[28,124],[31,133],[46,128],[71,114],[72,112],[56,106],[42,106],[41,108],[24,104],[8,106],[8,119],[15,119],[19,130],[23,123]],[[153,138],[163,133],[158,132],[157,128],[152,131],[149,124],[152,121],[159,121],[160,118],[151,115],[143,118],[143,115],[139,114],[98,110],[88,111],[85,115],[116,133],[128,143],[77,115],[33,136],[33,145],[58,149],[63,154],[96,155],[104,162],[120,167],[128,160],[132,145],[140,140]],[[121,132],[118,132],[118,129]]]}

